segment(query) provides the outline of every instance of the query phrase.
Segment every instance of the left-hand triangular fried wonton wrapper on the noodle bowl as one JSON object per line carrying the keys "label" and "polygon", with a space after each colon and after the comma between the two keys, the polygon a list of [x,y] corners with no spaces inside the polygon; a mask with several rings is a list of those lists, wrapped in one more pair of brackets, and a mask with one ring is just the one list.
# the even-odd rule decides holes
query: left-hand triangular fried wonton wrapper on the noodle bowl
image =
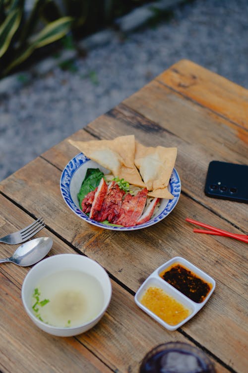
{"label": "left-hand triangular fried wonton wrapper on the noodle bowl", "polygon": [[144,187],[144,183],[134,165],[135,139],[133,135],[120,136],[114,140],[73,141],[69,143],[86,157],[110,170],[130,184]]}

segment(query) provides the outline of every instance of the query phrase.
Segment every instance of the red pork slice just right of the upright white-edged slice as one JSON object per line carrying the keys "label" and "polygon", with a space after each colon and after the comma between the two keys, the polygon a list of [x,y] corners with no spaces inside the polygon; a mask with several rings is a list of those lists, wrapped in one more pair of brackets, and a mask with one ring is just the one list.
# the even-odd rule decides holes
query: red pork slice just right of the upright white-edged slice
{"label": "red pork slice just right of the upright white-edged slice", "polygon": [[124,190],[120,189],[116,182],[109,185],[99,214],[99,221],[108,220],[112,223],[119,216],[124,194]]}

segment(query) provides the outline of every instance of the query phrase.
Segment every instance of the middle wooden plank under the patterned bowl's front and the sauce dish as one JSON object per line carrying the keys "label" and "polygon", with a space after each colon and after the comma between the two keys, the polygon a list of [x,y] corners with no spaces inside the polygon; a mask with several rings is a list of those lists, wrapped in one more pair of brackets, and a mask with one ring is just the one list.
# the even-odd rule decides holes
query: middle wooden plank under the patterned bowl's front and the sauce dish
{"label": "middle wooden plank under the patterned bowl's front and the sauce dish", "polygon": [[[35,170],[39,173],[34,179],[31,175]],[[216,292],[204,310],[183,329],[226,364],[232,357],[233,366],[243,372],[246,357],[242,352],[234,356],[234,351],[237,344],[246,346],[247,331],[241,328],[246,315],[245,244],[225,237],[193,234],[192,227],[184,219],[192,216],[236,231],[230,223],[181,195],[174,211],[151,228],[134,232],[104,230],[85,223],[68,209],[62,200],[59,179],[59,170],[42,159],[36,159],[3,181],[1,187],[24,209],[32,211],[35,216],[46,216],[46,223],[53,231],[97,260],[133,291],[156,267],[174,256],[183,256],[201,269],[208,269],[209,275],[217,280]],[[225,307],[227,299],[229,306]],[[225,328],[213,339],[212,331],[218,330],[223,319]],[[200,334],[199,330],[202,331]]]}

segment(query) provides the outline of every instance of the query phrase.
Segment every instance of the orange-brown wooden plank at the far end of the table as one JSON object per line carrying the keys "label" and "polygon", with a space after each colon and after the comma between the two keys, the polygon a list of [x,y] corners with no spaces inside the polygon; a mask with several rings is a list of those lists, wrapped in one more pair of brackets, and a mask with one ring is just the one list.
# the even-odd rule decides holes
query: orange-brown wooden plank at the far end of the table
{"label": "orange-brown wooden plank at the far end of the table", "polygon": [[248,128],[248,90],[245,88],[188,60],[177,62],[156,79],[232,122]]}

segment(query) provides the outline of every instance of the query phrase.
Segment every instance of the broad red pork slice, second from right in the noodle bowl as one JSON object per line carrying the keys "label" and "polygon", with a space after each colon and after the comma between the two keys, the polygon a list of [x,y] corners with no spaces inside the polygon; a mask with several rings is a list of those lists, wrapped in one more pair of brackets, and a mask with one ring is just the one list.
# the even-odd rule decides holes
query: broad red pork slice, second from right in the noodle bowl
{"label": "broad red pork slice, second from right in the noodle bowl", "polygon": [[120,210],[119,217],[114,220],[116,224],[130,227],[136,225],[137,219],[141,216],[147,198],[148,190],[146,188],[139,190],[134,196],[126,194]]}

